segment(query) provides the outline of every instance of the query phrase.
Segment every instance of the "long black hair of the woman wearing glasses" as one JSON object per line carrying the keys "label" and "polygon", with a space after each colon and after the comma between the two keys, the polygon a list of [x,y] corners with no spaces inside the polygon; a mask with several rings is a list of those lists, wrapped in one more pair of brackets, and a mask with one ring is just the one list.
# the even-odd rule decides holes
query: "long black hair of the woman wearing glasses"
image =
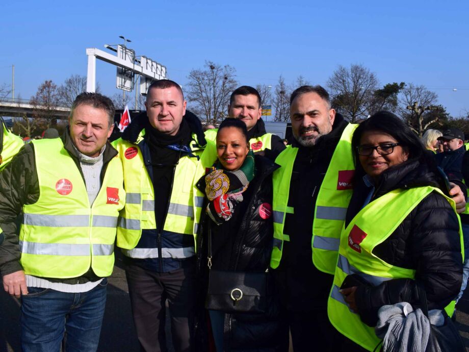
{"label": "long black hair of the woman wearing glasses", "polygon": [[408,153],[408,160],[426,158],[425,148],[420,138],[399,117],[389,111],[378,111],[370,118],[361,122],[352,137],[352,153],[355,167],[361,168],[357,147],[365,132],[376,131],[395,138]]}

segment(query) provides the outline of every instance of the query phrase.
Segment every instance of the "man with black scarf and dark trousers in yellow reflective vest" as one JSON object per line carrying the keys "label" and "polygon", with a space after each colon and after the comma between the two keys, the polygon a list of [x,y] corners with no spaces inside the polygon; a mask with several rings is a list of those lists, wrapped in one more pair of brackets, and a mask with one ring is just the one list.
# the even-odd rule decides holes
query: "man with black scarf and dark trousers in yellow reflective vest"
{"label": "man with black scarf and dark trousers in yellow reflective vest", "polygon": [[[117,245],[124,254],[134,323],[142,350],[166,350],[165,303],[176,351],[192,347],[195,315],[194,220],[203,197],[192,185],[205,147],[200,120],[186,112],[180,86],[148,88],[146,114],[115,141],[127,198]],[[201,168],[203,175],[204,169]]]}

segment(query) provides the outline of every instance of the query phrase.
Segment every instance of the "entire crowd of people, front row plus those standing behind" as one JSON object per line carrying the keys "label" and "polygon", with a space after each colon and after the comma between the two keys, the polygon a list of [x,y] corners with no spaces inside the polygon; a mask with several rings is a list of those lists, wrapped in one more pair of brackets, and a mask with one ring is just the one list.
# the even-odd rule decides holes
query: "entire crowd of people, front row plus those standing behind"
{"label": "entire crowd of people, front row plus those standing behind", "polygon": [[352,124],[321,86],[293,91],[290,141],[266,132],[252,87],[218,128],[186,104],[153,82],[114,141],[99,93],[76,97],[62,136],[23,146],[2,124],[0,273],[24,351],[97,349],[114,245],[145,351],[167,350],[167,313],[178,352],[435,343],[407,320],[451,324],[469,278],[460,130],[420,139],[387,111]]}

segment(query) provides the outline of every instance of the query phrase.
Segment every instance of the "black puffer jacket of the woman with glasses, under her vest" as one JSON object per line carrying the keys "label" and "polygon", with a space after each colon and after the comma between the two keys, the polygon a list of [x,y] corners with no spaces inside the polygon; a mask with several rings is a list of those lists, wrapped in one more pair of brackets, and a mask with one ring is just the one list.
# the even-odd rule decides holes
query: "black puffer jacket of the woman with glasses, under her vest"
{"label": "black puffer jacket of the woman with glasses, under her vest", "polygon": [[[441,177],[431,166],[410,160],[383,172],[372,200],[394,189],[421,186],[445,189]],[[355,182],[346,226],[360,211],[369,191],[362,180]],[[458,218],[448,201],[436,192],[427,195],[399,227],[374,248],[373,254],[386,263],[415,269],[415,279],[423,283],[427,293],[428,309],[446,307],[461,288]],[[359,286],[355,298],[361,320],[375,326],[378,309],[384,305],[407,301],[418,306],[416,281],[395,279],[376,287]]]}

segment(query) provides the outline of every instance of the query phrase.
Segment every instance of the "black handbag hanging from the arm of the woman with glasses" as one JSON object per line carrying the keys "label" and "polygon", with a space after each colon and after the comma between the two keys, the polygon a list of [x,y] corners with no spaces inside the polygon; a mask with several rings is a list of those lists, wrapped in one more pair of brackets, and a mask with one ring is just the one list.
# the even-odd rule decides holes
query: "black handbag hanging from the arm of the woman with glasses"
{"label": "black handbag hanging from the arm of the woman with glasses", "polygon": [[[419,291],[420,309],[428,318],[427,294],[421,283],[417,283]],[[425,352],[465,352],[465,347],[453,320],[445,310],[442,310],[445,323],[441,326],[430,324],[430,336]]]}

